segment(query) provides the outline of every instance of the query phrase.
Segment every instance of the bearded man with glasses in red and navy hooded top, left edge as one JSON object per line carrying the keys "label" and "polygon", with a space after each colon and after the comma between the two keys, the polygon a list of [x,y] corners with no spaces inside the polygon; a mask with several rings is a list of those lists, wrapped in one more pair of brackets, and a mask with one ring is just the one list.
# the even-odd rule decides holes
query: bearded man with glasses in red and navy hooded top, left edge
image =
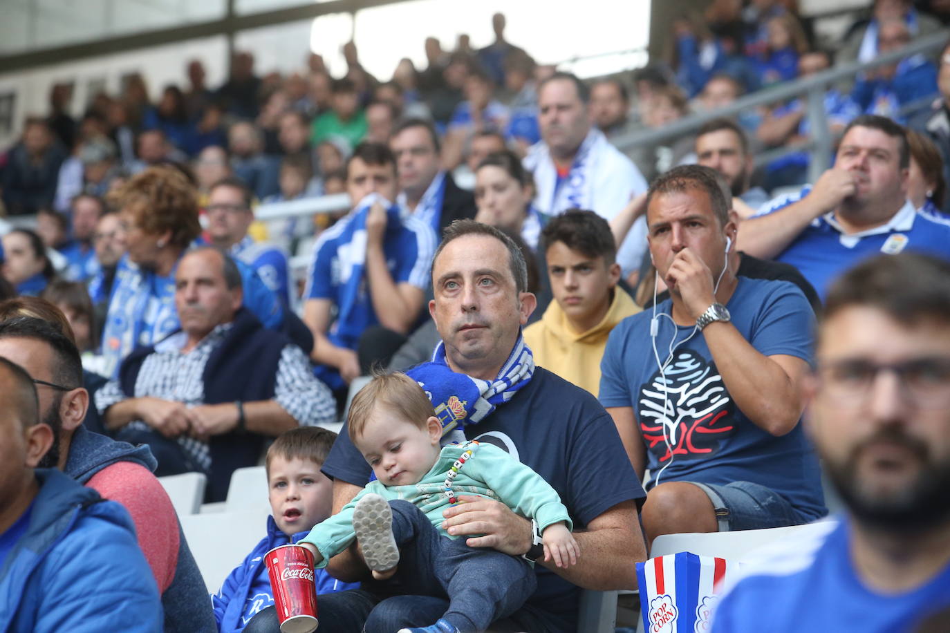
{"label": "bearded man with glasses in red and navy hooded top, left edge", "polygon": [[131,515],[139,547],[161,593],[164,630],[215,631],[204,582],[175,508],[151,473],[155,457],[147,447],[114,441],[82,424],[89,394],[82,385],[79,351],[62,326],[30,317],[2,322],[0,357],[28,372],[36,385],[40,423],[52,430],[52,443],[38,467],[58,468],[103,498],[122,504]]}

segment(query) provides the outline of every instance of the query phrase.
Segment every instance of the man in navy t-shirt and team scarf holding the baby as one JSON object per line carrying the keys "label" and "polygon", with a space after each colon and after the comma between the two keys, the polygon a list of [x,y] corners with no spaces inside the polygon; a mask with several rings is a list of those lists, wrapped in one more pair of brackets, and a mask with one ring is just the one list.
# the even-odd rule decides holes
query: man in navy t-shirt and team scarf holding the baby
{"label": "man in navy t-shirt and team scarf holding the baby", "polygon": [[[536,560],[537,591],[492,630],[577,631],[578,586],[605,590],[635,585],[635,564],[646,557],[637,522],[643,490],[603,407],[580,387],[535,366],[522,344],[521,328],[535,307],[535,297],[525,291],[523,254],[510,238],[472,220],[453,223],[436,251],[432,278],[435,298],[429,312],[445,351],[440,363],[422,365],[434,374],[414,373],[422,367],[409,374],[425,382],[433,403],[441,402],[437,414],[458,423],[456,431],[461,428],[466,438],[492,443],[516,456],[558,491],[574,520],[582,555],[569,569],[544,562],[532,546],[538,541],[531,521],[485,498],[460,497],[466,503],[445,512],[445,527],[453,535],[468,536],[471,547]],[[520,380],[485,400],[482,390],[508,378],[509,371]],[[466,393],[454,391],[455,385],[476,388],[481,396],[448,396]],[[333,512],[339,512],[370,480],[371,468],[344,429],[322,472],[333,478]],[[345,581],[370,577],[355,551],[354,547],[330,561],[334,577]],[[402,626],[431,624],[447,610],[447,600],[398,595],[407,593],[403,587],[365,584],[358,590],[320,596],[321,631],[327,626],[324,633],[391,633]]]}

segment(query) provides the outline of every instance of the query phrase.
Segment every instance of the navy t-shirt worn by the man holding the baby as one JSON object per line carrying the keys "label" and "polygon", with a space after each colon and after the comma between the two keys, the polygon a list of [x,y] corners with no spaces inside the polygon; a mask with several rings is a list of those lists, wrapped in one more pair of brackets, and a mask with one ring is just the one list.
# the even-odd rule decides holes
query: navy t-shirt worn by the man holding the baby
{"label": "navy t-shirt worn by the man holding the baby", "polygon": [[[646,496],[613,419],[589,393],[542,367],[511,400],[465,431],[466,438],[494,444],[541,475],[561,495],[575,530],[618,503],[639,504]],[[323,473],[357,486],[370,480],[370,465],[345,426]],[[528,603],[560,616],[562,630],[575,630],[578,587],[541,565],[535,571],[538,590]]]}

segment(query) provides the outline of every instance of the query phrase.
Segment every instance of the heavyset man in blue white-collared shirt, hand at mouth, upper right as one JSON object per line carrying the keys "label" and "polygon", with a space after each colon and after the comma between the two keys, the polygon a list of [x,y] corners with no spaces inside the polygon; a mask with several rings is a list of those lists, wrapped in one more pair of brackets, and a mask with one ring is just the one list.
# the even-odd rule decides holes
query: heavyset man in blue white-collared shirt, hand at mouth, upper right
{"label": "heavyset man in blue white-collared shirt, hand at mouth, upper right", "polygon": [[814,187],[779,198],[743,221],[738,247],[796,267],[820,296],[837,274],[879,252],[950,259],[950,221],[907,200],[903,128],[864,115],[845,128],[833,167]]}

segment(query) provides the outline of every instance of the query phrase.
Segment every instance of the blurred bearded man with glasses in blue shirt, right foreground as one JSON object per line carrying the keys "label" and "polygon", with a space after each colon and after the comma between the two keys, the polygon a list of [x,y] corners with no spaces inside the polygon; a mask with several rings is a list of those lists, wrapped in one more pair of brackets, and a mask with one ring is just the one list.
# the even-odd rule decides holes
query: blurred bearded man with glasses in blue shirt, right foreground
{"label": "blurred bearded man with glasses in blue shirt, right foreground", "polygon": [[807,431],[845,515],[755,554],[712,630],[945,631],[950,264],[908,253],[846,272],[816,358]]}

